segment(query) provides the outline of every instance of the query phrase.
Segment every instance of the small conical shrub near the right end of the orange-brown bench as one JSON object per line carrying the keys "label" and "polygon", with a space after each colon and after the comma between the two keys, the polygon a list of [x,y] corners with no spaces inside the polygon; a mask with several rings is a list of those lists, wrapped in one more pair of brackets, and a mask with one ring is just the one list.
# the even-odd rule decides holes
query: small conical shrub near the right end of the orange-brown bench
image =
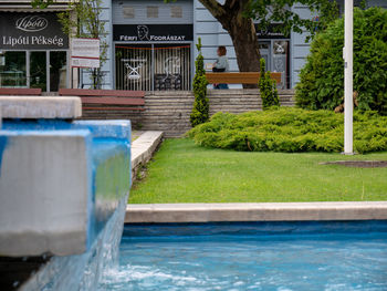
{"label": "small conical shrub near the right end of the orange-brown bench", "polygon": [[258,82],[262,98],[262,108],[268,110],[272,106],[280,106],[279,94],[275,86],[275,81],[270,77],[270,71],[266,71],[264,59],[260,61],[261,77]]}

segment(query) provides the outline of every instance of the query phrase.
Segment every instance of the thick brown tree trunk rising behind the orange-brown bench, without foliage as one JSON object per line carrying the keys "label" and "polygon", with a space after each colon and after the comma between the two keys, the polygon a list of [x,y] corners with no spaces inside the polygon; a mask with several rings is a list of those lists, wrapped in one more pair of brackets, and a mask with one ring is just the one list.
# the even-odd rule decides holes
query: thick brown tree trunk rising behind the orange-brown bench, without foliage
{"label": "thick brown tree trunk rising behind the orange-brown bench, without foliage", "polygon": [[[211,14],[222,24],[231,37],[240,72],[260,71],[260,50],[254,23],[243,17],[249,0],[227,0],[223,6],[216,6],[212,0],[200,0]],[[254,85],[243,85],[255,89]]]}

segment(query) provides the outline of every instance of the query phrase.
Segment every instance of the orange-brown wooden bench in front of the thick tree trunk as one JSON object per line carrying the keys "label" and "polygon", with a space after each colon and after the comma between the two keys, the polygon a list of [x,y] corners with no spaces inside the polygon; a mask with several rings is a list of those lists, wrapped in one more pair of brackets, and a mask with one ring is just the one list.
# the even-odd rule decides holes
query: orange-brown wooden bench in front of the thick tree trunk
{"label": "orange-brown wooden bench in front of the thick tree trunk", "polygon": [[[239,73],[206,73],[208,83],[210,84],[258,84],[261,74],[257,72],[239,72]],[[281,73],[270,73],[271,79],[276,84],[282,82]]]}

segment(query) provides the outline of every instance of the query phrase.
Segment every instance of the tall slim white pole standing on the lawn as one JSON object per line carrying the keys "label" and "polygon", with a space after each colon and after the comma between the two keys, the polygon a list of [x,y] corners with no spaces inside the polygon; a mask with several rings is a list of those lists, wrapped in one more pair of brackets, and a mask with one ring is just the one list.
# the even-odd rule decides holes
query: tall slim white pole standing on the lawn
{"label": "tall slim white pole standing on the lawn", "polygon": [[354,0],[345,0],[344,37],[344,154],[353,155],[353,63],[354,63]]}

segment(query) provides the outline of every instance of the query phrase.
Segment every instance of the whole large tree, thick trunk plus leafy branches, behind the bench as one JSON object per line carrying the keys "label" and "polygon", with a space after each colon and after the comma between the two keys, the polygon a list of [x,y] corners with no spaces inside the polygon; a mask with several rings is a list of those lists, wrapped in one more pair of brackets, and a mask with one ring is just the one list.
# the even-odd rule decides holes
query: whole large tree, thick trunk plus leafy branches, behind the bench
{"label": "whole large tree, thick trunk plus leafy branches, behind the bench", "polygon": [[[199,1],[228,31],[240,72],[260,70],[261,54],[255,25],[260,30],[265,30],[270,23],[281,23],[275,29],[284,34],[289,34],[292,30],[299,33],[306,30],[310,32],[306,38],[308,40],[338,17],[336,0],[224,0],[222,3],[217,0]],[[318,17],[303,19],[291,9],[295,3],[306,6]]]}

